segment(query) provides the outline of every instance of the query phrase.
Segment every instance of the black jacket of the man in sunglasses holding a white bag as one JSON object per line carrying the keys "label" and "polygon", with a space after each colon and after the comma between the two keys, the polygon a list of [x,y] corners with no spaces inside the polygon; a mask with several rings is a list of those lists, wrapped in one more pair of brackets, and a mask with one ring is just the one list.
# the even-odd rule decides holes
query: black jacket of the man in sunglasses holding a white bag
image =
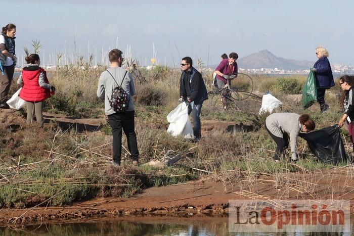
{"label": "black jacket of the man in sunglasses holding a white bag", "polygon": [[194,67],[189,73],[182,72],[180,80],[180,97],[189,98],[194,104],[199,104],[208,99],[208,92],[202,75]]}

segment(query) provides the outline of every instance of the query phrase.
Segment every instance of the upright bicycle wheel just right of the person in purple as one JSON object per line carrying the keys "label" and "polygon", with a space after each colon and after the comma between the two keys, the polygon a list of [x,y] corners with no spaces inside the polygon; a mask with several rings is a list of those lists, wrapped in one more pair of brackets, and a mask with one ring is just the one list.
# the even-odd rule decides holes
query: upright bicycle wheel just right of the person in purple
{"label": "upright bicycle wheel just right of the person in purple", "polygon": [[250,96],[253,95],[253,80],[247,74],[238,73],[237,77],[231,83],[231,89],[237,92],[237,94],[234,94],[234,99],[248,99]]}

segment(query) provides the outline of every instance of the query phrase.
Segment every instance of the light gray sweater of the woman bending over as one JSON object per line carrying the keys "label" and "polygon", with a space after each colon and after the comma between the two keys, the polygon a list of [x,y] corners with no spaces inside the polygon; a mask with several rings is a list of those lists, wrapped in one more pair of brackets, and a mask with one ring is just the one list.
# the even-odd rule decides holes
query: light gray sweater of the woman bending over
{"label": "light gray sweater of the woman bending over", "polygon": [[286,132],[290,137],[291,159],[297,159],[296,139],[302,125],[299,122],[299,114],[296,113],[274,113],[265,119],[265,125],[277,137],[283,137]]}

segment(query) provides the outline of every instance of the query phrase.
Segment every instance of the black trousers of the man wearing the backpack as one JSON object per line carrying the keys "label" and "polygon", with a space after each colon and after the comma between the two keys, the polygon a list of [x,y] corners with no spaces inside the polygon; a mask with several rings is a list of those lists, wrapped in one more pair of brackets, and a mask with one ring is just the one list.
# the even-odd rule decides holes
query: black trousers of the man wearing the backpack
{"label": "black trousers of the man wearing the backpack", "polygon": [[130,158],[137,161],[139,158],[137,135],[135,133],[134,111],[117,112],[108,116],[108,123],[113,135],[113,161],[120,164],[122,154],[122,130],[126,135]]}

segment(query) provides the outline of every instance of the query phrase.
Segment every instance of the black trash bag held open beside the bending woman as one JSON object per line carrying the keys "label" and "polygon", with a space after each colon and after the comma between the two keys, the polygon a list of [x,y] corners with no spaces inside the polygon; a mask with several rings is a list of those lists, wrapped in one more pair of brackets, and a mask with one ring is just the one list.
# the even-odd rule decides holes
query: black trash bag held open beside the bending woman
{"label": "black trash bag held open beside the bending woman", "polygon": [[325,163],[338,164],[346,160],[345,149],[337,125],[309,133],[300,133],[311,152]]}

